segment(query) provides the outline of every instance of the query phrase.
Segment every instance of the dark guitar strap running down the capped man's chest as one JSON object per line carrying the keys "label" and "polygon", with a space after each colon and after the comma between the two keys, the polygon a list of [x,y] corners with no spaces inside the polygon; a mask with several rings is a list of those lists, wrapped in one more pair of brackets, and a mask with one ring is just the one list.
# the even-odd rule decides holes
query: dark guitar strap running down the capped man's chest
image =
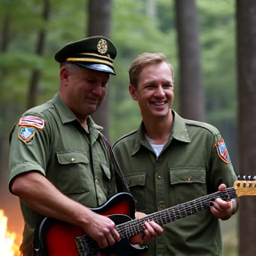
{"label": "dark guitar strap running down the capped man's chest", "polygon": [[107,148],[108,148],[111,169],[114,170],[114,172],[115,172],[117,192],[127,192],[127,193],[131,194],[131,191],[128,187],[127,181],[124,179],[124,174],[121,171],[119,164],[117,163],[116,156],[108,142],[108,139],[102,132],[100,132],[100,136],[101,136],[101,139],[106,143]]}

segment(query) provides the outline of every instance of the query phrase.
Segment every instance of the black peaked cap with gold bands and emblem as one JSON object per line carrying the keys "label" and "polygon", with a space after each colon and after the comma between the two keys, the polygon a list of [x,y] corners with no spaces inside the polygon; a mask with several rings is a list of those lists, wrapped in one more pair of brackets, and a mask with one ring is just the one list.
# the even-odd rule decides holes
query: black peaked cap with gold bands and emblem
{"label": "black peaked cap with gold bands and emblem", "polygon": [[54,56],[58,62],[73,62],[82,68],[116,75],[113,60],[116,47],[104,36],[92,36],[63,46]]}

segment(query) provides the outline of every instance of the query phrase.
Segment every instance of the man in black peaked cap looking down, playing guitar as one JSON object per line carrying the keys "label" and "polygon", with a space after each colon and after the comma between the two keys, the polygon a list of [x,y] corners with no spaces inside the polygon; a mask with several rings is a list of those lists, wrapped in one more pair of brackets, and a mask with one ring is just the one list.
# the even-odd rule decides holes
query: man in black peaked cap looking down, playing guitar
{"label": "man in black peaked cap looking down, playing guitar", "polygon": [[[121,239],[115,223],[91,211],[108,204],[116,192],[130,192],[100,132],[102,127],[91,118],[107,94],[109,76],[116,75],[115,58],[114,44],[103,36],[65,45],[55,55],[60,62],[59,92],[43,105],[28,109],[12,128],[9,189],[20,197],[25,223],[20,245],[23,256],[41,255],[41,251],[78,255],[75,239],[84,234],[99,248],[108,246],[115,254],[116,247],[109,246]],[[133,198],[130,200],[133,203]],[[56,219],[63,223],[60,226],[58,222],[60,232],[54,228]],[[38,223],[43,225],[39,231]],[[53,233],[46,233],[44,227],[50,224]],[[163,232],[153,221],[145,222],[143,228],[140,243]],[[128,241],[126,244],[130,248]],[[84,250],[83,244],[78,247]],[[86,247],[91,255],[92,248],[89,244]],[[37,249],[35,254],[33,248]],[[87,255],[87,251],[81,253]]]}

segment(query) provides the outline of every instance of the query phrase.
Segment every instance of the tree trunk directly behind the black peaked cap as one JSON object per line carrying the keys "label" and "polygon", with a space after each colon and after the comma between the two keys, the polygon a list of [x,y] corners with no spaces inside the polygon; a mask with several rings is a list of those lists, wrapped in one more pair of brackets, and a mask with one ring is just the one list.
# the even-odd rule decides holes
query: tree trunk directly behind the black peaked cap
{"label": "tree trunk directly behind the black peaked cap", "polygon": [[[112,0],[89,0],[89,20],[87,36],[110,37]],[[111,90],[111,77],[108,90]],[[92,115],[96,124],[104,128],[103,133],[109,134],[109,97],[108,94],[100,108]]]}

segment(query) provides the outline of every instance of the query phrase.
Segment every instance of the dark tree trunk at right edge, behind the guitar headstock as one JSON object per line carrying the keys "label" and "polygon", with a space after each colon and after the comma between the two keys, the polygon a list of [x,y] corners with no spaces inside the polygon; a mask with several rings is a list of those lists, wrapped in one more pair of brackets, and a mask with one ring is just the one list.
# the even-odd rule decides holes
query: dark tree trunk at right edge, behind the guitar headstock
{"label": "dark tree trunk at right edge, behind the guitar headstock", "polygon": [[[239,172],[256,170],[256,2],[236,0]],[[240,199],[239,255],[256,251],[256,197]]]}

